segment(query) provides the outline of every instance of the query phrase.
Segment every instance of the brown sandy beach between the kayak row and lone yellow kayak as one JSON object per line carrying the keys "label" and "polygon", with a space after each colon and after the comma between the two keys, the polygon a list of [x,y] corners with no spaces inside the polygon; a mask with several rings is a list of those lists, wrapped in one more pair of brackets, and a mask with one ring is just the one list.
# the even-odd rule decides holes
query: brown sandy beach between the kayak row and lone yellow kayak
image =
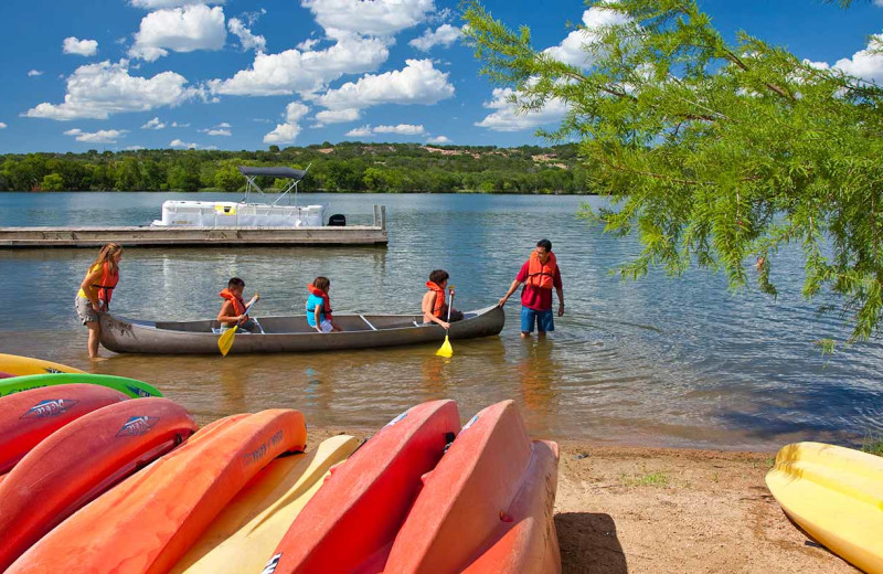
{"label": "brown sandy beach between the kayak row and lone yellow kayak", "polygon": [[[310,427],[310,443],[372,431]],[[775,453],[560,442],[563,573],[859,572],[795,527],[764,483]]]}

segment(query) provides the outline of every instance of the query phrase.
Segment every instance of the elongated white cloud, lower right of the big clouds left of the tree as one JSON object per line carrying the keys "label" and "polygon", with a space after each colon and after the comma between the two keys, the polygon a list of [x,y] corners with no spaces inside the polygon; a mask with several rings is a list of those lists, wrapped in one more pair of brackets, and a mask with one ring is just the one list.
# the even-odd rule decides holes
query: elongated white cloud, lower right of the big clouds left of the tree
{"label": "elongated white cloud, lower right of the big clouds left of the tree", "polygon": [[454,95],[448,74],[429,60],[406,60],[403,70],[369,74],[338,89],[329,89],[317,102],[329,109],[363,109],[382,104],[435,104]]}

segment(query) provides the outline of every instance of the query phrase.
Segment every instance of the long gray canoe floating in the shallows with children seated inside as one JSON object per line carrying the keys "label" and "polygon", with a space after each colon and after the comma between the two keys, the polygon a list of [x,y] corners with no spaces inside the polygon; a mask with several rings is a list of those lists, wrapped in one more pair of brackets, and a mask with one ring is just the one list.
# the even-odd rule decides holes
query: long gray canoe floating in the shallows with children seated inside
{"label": "long gray canoe floating in the shallows with children seated inside", "polygon": [[[422,315],[334,313],[341,332],[319,333],[306,316],[258,317],[263,334],[238,332],[231,353],[289,353],[372,349],[438,342],[445,330],[423,325]],[[220,354],[214,330],[217,321],[140,321],[100,315],[102,344],[117,353]],[[486,307],[466,311],[464,320],[450,323],[450,339],[499,334],[506,322],[503,310]]]}

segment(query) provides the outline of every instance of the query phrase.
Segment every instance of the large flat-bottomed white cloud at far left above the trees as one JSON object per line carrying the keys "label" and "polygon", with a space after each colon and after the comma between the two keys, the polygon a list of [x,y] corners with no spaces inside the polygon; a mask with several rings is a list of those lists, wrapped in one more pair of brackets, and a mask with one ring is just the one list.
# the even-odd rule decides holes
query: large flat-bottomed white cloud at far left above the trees
{"label": "large flat-bottomed white cloud at far left above the trees", "polygon": [[118,64],[88,64],[67,78],[64,103],[39,104],[24,115],[60,120],[107,119],[110,114],[148,111],[202,95],[196,88],[184,87],[187,78],[174,72],[162,72],[151,78],[130,76],[125,60]]}

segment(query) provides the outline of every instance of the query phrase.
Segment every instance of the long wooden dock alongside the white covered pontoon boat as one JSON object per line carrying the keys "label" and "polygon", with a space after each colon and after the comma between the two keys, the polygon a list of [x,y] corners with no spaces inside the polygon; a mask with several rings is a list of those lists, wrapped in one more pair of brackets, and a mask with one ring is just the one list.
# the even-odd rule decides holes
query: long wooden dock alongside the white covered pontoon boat
{"label": "long wooden dock alongside the white covered pontoon boat", "polygon": [[386,245],[386,210],[375,206],[374,225],[342,227],[0,227],[0,248]]}

